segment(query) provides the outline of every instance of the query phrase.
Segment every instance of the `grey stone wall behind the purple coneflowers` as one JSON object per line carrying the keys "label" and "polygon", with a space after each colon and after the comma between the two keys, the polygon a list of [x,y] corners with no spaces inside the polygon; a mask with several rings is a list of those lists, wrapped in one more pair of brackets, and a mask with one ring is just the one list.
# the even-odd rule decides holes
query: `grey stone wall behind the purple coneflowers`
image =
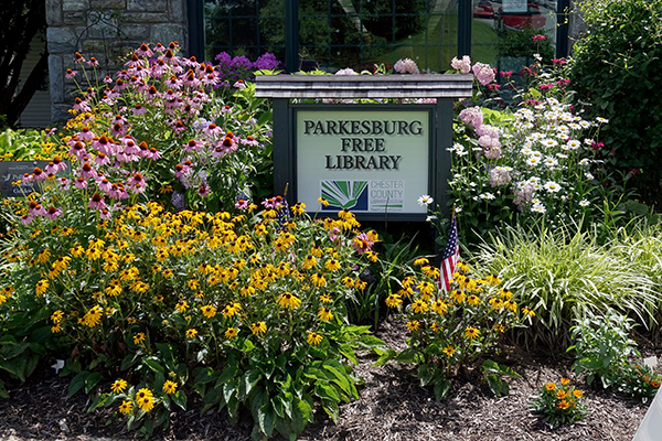
{"label": "grey stone wall behind the purple coneflowers", "polygon": [[[169,44],[178,41],[188,49],[186,0],[45,0],[49,72],[51,77],[51,116],[53,122],[71,116],[76,89],[65,78],[74,68],[74,54],[99,62],[98,75],[114,73],[120,56],[141,43]],[[81,71],[79,67],[76,68]],[[89,69],[90,71],[90,69]],[[84,80],[81,75],[77,79]]]}

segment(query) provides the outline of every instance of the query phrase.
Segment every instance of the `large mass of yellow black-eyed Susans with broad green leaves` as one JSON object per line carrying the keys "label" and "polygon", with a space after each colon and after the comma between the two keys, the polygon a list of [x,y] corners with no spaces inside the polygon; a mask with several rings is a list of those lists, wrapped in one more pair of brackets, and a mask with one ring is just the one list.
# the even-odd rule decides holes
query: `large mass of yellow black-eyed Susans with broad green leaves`
{"label": "large mass of yellow black-eyed Susans with broad green leaves", "polygon": [[261,205],[233,216],[149,202],[71,226],[14,215],[0,314],[49,318],[72,354],[70,395],[146,433],[192,394],[232,421],[247,409],[256,435],[295,437],[317,406],[335,421],[359,397],[354,351],[382,344],[346,313],[377,236],[346,211],[314,220],[280,196]]}

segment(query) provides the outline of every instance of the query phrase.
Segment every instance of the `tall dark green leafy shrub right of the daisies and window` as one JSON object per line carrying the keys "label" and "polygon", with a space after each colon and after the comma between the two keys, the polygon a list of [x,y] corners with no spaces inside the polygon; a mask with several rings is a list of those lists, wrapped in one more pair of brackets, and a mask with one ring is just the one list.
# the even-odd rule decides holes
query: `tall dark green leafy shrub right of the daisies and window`
{"label": "tall dark green leafy shrub right of the daisies and window", "polygon": [[572,87],[590,116],[609,120],[599,153],[630,173],[649,202],[662,200],[662,3],[590,0],[580,3],[588,32],[575,44]]}

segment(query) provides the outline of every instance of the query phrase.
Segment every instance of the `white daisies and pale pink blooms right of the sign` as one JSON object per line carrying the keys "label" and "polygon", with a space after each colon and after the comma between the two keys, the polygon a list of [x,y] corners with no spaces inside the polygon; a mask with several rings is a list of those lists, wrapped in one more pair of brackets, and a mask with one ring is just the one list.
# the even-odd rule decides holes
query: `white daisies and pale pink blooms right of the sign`
{"label": "white daisies and pale pink blooms right of the sign", "polygon": [[462,109],[459,120],[465,138],[449,149],[457,195],[461,189],[473,201],[510,195],[519,212],[533,215],[575,216],[590,206],[597,184],[590,171],[598,162],[591,158],[599,143],[587,133],[605,119],[585,120],[549,97],[519,109],[499,128],[483,123],[480,107]]}

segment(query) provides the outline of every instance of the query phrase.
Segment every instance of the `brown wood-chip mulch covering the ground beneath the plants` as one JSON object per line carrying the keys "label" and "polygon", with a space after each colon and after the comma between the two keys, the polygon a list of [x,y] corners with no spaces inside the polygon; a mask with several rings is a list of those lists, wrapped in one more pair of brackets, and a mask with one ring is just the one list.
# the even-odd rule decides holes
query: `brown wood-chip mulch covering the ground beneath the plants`
{"label": "brown wood-chip mulch covering the ground beneath the plants", "polygon": [[[391,347],[403,348],[403,333],[386,322],[376,333]],[[333,424],[323,411],[309,424],[300,440],[581,440],[626,441],[634,435],[648,409],[612,391],[585,390],[589,415],[585,421],[556,430],[528,410],[527,402],[546,381],[562,376],[574,378],[572,359],[549,355],[514,354],[512,368],[522,375],[509,379],[511,394],[496,398],[478,381],[455,381],[442,402],[435,401],[429,388],[421,388],[407,365],[371,367],[375,357],[360,359],[357,373],[365,379],[361,399],[341,406],[340,421]],[[44,367],[25,384],[10,385],[10,399],[0,399],[0,439],[26,440],[129,440],[128,432],[110,409],[86,413],[87,397],[78,392],[67,398],[70,378],[60,378]],[[580,381],[580,379],[578,380]],[[650,401],[649,401],[650,402]],[[223,413],[200,416],[200,401],[190,398],[186,411],[174,411],[166,431],[157,429],[154,440],[250,440],[249,416],[232,427]]]}

